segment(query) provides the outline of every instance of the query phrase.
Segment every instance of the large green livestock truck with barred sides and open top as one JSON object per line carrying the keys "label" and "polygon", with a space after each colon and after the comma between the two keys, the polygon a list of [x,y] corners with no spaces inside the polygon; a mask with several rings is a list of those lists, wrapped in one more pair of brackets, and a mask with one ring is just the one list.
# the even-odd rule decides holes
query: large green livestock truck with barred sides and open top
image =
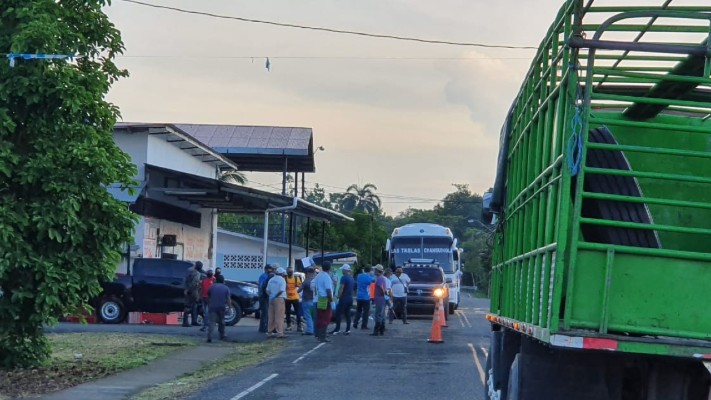
{"label": "large green livestock truck with barred sides and open top", "polygon": [[558,12],[485,199],[486,398],[711,398],[710,32],[708,1]]}

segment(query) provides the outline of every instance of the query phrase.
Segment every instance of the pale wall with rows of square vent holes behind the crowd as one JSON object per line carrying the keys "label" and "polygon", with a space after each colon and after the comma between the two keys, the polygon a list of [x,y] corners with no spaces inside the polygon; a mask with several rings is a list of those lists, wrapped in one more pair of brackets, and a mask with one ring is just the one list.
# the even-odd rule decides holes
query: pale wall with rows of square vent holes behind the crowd
{"label": "pale wall with rows of square vent holes behind the crowd", "polygon": [[[232,233],[218,229],[216,266],[222,268],[227,279],[257,281],[264,272],[264,242],[262,238]],[[306,256],[302,247],[291,248],[293,260]],[[283,243],[269,242],[267,245],[267,263],[278,263],[286,268],[289,259],[289,247]]]}

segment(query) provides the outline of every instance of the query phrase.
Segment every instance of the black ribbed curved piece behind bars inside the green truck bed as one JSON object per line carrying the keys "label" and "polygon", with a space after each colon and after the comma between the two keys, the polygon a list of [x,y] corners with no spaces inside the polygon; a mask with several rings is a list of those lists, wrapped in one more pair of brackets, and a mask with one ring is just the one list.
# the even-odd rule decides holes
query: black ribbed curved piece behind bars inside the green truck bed
{"label": "black ribbed curved piece behind bars inside the green truck bed", "polygon": [[[612,132],[605,126],[592,129],[588,141],[591,143],[617,144]],[[586,166],[594,168],[631,171],[629,161],[620,150],[590,149]],[[586,174],[584,190],[592,193],[616,194],[642,197],[637,178],[604,174]],[[583,199],[583,217],[610,221],[652,224],[652,215],[646,204],[601,199]],[[657,233],[650,229],[618,228],[611,226],[581,225],[583,238],[588,242],[617,244],[622,246],[660,248]]]}

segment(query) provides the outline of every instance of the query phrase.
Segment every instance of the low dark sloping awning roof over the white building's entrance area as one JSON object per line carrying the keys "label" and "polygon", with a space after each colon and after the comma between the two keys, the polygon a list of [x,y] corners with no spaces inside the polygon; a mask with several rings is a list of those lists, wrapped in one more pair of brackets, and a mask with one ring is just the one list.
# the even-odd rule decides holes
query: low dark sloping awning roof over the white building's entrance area
{"label": "low dark sloping awning roof over the white building's entrance area", "polygon": [[222,212],[263,214],[265,211],[272,211],[273,208],[294,206],[293,209],[284,210],[284,212],[321,221],[353,221],[346,215],[295,197],[265,192],[150,164],[146,164],[146,171],[160,172],[180,183],[179,187],[148,187],[148,190],[160,191],[165,195],[175,196],[179,200],[203,208],[216,208]]}

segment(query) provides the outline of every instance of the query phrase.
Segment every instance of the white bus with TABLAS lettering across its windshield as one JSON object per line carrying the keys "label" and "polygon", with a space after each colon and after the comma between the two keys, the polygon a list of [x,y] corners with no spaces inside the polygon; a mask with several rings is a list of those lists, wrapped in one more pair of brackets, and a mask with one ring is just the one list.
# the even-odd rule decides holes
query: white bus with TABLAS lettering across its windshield
{"label": "white bus with TABLAS lettering across its windshield", "polygon": [[410,259],[431,259],[438,263],[449,285],[449,313],[459,306],[461,286],[461,249],[452,230],[430,223],[408,224],[393,230],[385,244],[388,266],[402,266]]}

